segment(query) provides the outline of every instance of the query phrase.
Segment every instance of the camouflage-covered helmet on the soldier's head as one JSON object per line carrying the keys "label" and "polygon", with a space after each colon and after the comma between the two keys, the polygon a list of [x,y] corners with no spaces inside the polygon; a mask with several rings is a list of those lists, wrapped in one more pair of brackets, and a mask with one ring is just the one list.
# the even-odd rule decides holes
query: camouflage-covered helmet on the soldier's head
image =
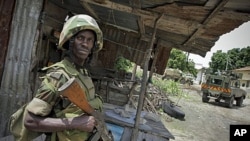
{"label": "camouflage-covered helmet on the soldier's head", "polygon": [[97,52],[102,49],[103,37],[102,31],[100,30],[95,19],[88,15],[80,14],[75,15],[67,20],[63,26],[63,30],[59,38],[59,49],[65,49],[63,47],[64,43],[67,42],[72,36],[78,33],[81,30],[89,29],[96,33],[95,47],[93,48],[94,52]]}

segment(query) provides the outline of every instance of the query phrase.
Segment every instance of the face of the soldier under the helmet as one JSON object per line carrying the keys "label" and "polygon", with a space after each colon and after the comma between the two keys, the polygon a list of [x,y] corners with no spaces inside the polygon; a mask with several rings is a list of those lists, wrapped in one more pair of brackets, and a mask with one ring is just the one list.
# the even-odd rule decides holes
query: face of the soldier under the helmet
{"label": "face of the soldier under the helmet", "polygon": [[80,31],[74,41],[73,54],[77,59],[85,60],[94,47],[95,34],[91,30]]}

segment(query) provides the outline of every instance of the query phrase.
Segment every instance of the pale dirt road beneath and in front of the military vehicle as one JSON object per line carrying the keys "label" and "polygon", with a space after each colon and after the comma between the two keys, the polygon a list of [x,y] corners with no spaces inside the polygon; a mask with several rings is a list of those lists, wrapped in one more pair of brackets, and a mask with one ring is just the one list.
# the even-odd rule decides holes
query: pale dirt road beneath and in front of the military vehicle
{"label": "pale dirt road beneath and in front of the military vehicle", "polygon": [[[195,88],[195,89],[194,89]],[[185,89],[186,97],[170,97],[185,112],[181,121],[166,116],[166,128],[175,136],[174,141],[229,141],[230,124],[250,125],[250,99],[242,107],[227,108],[223,103],[210,100],[203,103],[199,86]]]}

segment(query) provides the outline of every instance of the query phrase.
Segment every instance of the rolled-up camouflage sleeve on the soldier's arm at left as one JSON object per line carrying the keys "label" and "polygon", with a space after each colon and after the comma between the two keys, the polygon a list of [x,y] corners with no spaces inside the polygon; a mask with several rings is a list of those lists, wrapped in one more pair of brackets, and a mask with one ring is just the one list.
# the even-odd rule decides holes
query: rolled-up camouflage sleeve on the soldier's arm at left
{"label": "rolled-up camouflage sleeve on the soldier's arm at left", "polygon": [[35,115],[47,116],[55,103],[61,99],[57,89],[67,81],[61,72],[53,71],[42,77],[42,83],[36,96],[28,104],[27,110]]}

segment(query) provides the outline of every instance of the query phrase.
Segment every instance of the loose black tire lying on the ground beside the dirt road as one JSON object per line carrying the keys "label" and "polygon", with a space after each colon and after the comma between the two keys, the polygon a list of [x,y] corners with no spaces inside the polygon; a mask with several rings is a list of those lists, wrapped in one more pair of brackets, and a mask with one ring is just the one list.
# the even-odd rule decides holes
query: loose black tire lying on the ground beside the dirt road
{"label": "loose black tire lying on the ground beside the dirt road", "polygon": [[169,101],[165,101],[162,103],[162,109],[169,116],[174,117],[176,119],[183,120],[185,117],[185,113],[179,107],[175,106]]}

